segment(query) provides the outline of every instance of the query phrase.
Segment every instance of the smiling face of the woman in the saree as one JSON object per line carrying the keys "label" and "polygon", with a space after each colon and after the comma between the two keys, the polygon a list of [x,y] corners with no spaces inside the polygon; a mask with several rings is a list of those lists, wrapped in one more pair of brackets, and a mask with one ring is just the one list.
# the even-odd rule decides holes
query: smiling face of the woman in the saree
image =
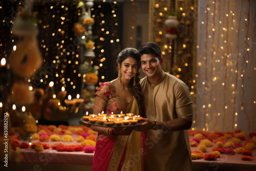
{"label": "smiling face of the woman in the saree", "polygon": [[123,60],[122,64],[118,63],[118,68],[121,72],[121,79],[125,78],[127,80],[132,79],[138,70],[138,62],[132,57],[127,57]]}

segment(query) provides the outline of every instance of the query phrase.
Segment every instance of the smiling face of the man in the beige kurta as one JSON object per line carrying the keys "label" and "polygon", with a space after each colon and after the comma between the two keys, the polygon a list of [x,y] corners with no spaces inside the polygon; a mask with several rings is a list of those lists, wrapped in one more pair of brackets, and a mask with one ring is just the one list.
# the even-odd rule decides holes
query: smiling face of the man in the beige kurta
{"label": "smiling face of the man in the beige kurta", "polygon": [[[161,77],[162,69],[162,60],[159,61],[158,57],[155,54],[143,54],[140,57],[141,60],[141,69],[147,78]],[[159,79],[160,79],[159,77]]]}

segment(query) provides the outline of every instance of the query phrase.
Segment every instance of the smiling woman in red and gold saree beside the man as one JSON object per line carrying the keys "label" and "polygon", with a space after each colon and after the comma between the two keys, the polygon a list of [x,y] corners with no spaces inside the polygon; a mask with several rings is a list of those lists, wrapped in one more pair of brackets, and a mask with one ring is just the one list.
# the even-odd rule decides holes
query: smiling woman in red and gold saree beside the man
{"label": "smiling woman in red and gold saree beside the man", "polygon": [[[100,85],[95,94],[94,114],[104,111],[140,115],[139,60],[136,49],[126,48],[119,53],[118,78]],[[92,129],[98,132],[93,170],[143,170],[143,132],[122,127],[114,128],[109,135],[109,128],[92,125]]]}

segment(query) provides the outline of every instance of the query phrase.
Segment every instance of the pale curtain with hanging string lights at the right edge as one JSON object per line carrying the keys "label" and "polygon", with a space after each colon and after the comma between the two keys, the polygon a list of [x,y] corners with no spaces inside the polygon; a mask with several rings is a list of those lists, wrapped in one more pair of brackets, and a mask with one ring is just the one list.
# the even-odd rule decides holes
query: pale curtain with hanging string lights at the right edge
{"label": "pale curtain with hanging string lights at the right edge", "polygon": [[256,132],[256,1],[198,5],[196,129]]}

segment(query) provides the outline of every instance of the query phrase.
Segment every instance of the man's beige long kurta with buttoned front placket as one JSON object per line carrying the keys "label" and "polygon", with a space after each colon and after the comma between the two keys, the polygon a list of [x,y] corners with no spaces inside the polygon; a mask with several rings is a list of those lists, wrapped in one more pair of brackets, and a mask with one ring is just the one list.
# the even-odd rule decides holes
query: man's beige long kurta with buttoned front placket
{"label": "man's beige long kurta with buttoned front placket", "polygon": [[[163,72],[155,84],[140,81],[145,117],[154,121],[193,119],[191,95],[186,84]],[[193,170],[187,130],[148,130],[145,139],[145,170]]]}

